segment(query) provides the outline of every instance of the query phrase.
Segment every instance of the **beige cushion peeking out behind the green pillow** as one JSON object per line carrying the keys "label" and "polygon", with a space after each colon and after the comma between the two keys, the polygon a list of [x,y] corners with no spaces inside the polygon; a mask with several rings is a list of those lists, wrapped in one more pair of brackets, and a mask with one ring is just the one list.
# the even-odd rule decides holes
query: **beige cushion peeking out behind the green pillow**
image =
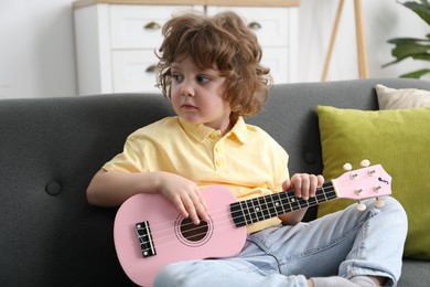
{"label": "beige cushion peeking out behind the green pillow", "polygon": [[376,85],[379,109],[429,107],[430,92],[419,88],[391,88]]}

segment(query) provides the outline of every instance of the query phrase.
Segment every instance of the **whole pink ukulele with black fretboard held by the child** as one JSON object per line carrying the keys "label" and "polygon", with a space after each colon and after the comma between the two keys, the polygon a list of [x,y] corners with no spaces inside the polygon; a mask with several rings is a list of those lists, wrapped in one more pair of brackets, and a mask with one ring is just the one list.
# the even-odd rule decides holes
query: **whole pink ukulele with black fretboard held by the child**
{"label": "whole pink ukulele with black fretboard held by the child", "polygon": [[[237,255],[245,244],[247,224],[337,198],[359,201],[388,195],[390,185],[391,177],[376,164],[325,182],[308,201],[298,199],[292,190],[237,201],[228,189],[211,187],[202,191],[211,221],[200,225],[180,215],[162,195],[137,194],[118,210],[115,247],[127,276],[140,286],[152,286],[157,273],[169,263]],[[384,202],[377,200],[376,205],[381,208]],[[358,204],[358,210],[364,209]]]}

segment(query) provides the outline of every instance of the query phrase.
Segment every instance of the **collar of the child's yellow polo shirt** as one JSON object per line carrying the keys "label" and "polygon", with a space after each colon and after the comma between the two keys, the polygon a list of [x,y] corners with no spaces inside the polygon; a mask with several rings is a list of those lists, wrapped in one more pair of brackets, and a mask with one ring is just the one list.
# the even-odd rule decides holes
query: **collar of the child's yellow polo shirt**
{"label": "collar of the child's yellow polo shirt", "polygon": [[[194,125],[185,121],[181,117],[178,117],[180,126],[195,140],[204,141],[211,135],[221,136],[219,130],[215,130],[211,127],[206,127],[203,124]],[[235,136],[235,137],[234,137]],[[243,117],[238,117],[235,126],[230,131],[226,134],[226,137],[236,138],[241,144],[245,144],[248,138],[248,128]]]}

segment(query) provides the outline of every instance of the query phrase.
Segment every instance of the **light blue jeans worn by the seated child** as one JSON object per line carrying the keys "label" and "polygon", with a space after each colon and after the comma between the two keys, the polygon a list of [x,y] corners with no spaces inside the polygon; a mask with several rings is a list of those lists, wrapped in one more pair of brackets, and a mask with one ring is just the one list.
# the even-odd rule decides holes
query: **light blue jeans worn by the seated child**
{"label": "light blue jeans worn by the seated child", "polygon": [[[250,234],[237,257],[180,262],[162,268],[154,286],[308,286],[307,278],[359,275],[396,286],[407,234],[405,210],[394,198],[375,200],[310,223]],[[225,244],[228,244],[227,242]]]}

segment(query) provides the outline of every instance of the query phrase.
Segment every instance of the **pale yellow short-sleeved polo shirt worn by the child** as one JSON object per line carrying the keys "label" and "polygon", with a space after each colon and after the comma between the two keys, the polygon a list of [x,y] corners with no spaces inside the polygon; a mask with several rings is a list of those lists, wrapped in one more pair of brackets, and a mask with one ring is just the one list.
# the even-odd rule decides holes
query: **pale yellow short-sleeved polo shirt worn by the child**
{"label": "pale yellow short-sleeved polo shirt worn by the child", "polygon": [[[288,155],[261,128],[239,117],[225,136],[204,125],[166,117],[131,134],[123,151],[107,162],[107,171],[166,171],[194,181],[198,187],[224,185],[238,200],[282,190],[289,177]],[[278,225],[278,217],[248,225],[256,232]]]}

